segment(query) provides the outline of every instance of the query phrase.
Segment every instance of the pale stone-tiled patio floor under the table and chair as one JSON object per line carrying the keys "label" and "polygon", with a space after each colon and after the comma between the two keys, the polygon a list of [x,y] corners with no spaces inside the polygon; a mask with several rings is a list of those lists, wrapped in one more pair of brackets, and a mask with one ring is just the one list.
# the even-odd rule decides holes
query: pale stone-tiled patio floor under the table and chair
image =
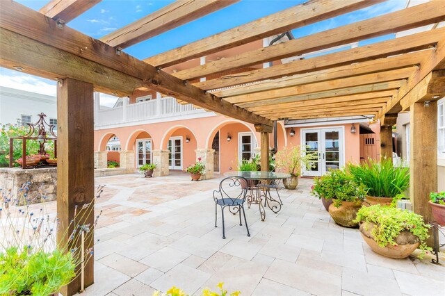
{"label": "pale stone-tiled patio floor under the table and chair", "polygon": [[250,237],[237,216],[226,215],[225,240],[213,227],[211,194],[220,179],[96,181],[106,191],[97,202],[95,284],[83,295],[151,295],[171,286],[192,295],[220,281],[242,295],[445,295],[443,265],[374,254],[357,229],[332,222],[309,195],[310,179],[280,190],[282,211],[267,209],[264,222],[257,206],[248,209]]}

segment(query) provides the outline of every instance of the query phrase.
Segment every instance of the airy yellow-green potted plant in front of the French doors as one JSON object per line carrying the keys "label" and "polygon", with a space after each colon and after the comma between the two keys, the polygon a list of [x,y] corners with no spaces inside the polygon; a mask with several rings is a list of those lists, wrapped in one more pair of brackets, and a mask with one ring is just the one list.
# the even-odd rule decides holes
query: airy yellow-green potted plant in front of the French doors
{"label": "airy yellow-green potted plant in front of the French doors", "polygon": [[300,176],[301,165],[305,167],[314,167],[314,163],[318,161],[317,154],[307,153],[307,147],[302,149],[300,145],[284,147],[284,149],[277,152],[275,158],[276,167],[291,176],[283,179],[283,185],[286,189],[295,189],[298,186],[298,176]]}

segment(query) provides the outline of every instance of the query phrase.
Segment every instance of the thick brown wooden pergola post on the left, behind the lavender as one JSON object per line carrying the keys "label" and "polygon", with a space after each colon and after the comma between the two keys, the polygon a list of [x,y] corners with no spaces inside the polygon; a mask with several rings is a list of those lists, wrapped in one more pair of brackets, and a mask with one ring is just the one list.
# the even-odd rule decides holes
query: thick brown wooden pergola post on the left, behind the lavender
{"label": "thick brown wooden pergola post on the left, behind the lavender", "polygon": [[[82,210],[84,204],[94,203],[94,106],[93,85],[74,79],[64,79],[57,88],[58,121],[58,161],[57,161],[57,244],[66,246],[70,242],[70,233],[74,224],[90,224],[94,231],[94,211],[90,207]],[[93,205],[94,206],[94,205]],[[81,211],[85,211],[84,215]],[[79,220],[79,217],[82,217]],[[90,233],[85,242],[85,249],[93,246]],[[79,240],[78,240],[79,241]],[[76,246],[81,247],[80,242]],[[94,258],[85,265],[85,287],[94,282]],[[79,272],[79,267],[77,268]],[[81,289],[81,277],[64,286],[61,293],[65,296],[76,294]]]}

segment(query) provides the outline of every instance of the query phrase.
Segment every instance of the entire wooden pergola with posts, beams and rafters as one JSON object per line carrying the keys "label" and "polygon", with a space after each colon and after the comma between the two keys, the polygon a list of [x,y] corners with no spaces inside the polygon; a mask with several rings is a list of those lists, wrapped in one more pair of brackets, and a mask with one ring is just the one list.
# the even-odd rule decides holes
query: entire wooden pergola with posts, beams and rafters
{"label": "entire wooden pergola with posts, beams and rafters", "polygon": [[[100,0],[51,0],[39,12],[1,1],[0,65],[58,83],[58,213],[63,227],[74,206],[91,202],[93,92],[127,96],[149,88],[261,132],[268,167],[273,122],[373,115],[382,124],[382,155],[392,156],[392,126],[410,110],[410,196],[431,220],[428,194],[437,190],[437,99],[445,95],[445,28],[271,67],[254,67],[445,20],[445,1],[405,8],[361,22],[230,56],[173,74],[163,68],[375,5],[382,0],[312,0],[254,22],[138,60],[124,50],[238,0],[178,0],[100,40],[67,26]],[[226,73],[230,71],[231,74]],[[200,78],[207,77],[206,81]],[[426,103],[428,102],[428,103]],[[86,218],[92,222],[93,216]],[[92,243],[92,242],[89,242]],[[86,286],[93,283],[88,263]],[[80,281],[63,291],[72,295]]]}

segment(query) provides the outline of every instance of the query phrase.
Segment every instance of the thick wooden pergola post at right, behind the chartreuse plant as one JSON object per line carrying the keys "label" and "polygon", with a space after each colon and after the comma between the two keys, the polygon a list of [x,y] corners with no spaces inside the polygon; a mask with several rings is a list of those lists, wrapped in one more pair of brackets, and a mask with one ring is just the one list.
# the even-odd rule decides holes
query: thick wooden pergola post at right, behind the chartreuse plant
{"label": "thick wooden pergola post at right, behind the chartreuse plant", "polygon": [[414,212],[428,223],[434,220],[429,195],[437,191],[437,101],[411,105],[410,145],[410,199]]}

